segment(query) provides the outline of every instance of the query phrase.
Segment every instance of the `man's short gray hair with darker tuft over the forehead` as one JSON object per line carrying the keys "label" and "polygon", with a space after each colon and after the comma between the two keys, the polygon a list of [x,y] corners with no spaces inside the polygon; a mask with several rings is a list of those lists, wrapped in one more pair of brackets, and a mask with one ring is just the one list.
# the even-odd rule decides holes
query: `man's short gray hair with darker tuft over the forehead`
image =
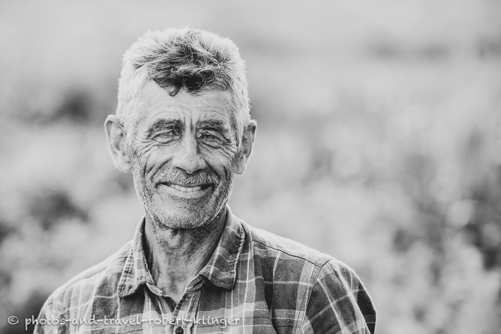
{"label": "man's short gray hair with darker tuft over the forehead", "polygon": [[231,93],[231,122],[240,142],[250,122],[245,64],[228,38],[192,28],[149,31],[125,52],[118,83],[116,116],[126,133],[135,129],[134,113],[143,85],[154,81],[171,96],[207,90]]}

